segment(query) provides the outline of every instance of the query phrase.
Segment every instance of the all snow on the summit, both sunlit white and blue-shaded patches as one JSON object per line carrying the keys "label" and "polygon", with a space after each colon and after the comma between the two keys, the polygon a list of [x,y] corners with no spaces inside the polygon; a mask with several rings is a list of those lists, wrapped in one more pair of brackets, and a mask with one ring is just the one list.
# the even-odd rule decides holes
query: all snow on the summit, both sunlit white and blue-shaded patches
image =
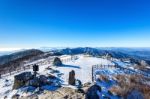
{"label": "all snow on the summit, both sunlit white and blue-shaded patches", "polygon": [[[31,64],[36,64],[39,62],[44,62],[47,63],[47,61],[53,61],[54,57],[49,57],[47,59],[40,59],[38,61],[28,63],[26,65],[31,65]],[[44,64],[39,66],[39,71],[38,73],[40,75],[48,75],[52,74],[58,77],[62,82],[61,85],[63,87],[71,87],[75,88],[73,86],[68,85],[68,78],[69,78],[69,72],[71,70],[75,71],[75,78],[80,80],[83,84],[87,82],[92,82],[92,66],[93,65],[114,65],[114,62],[108,59],[103,59],[103,58],[96,58],[96,57],[90,57],[87,55],[76,55],[75,58],[72,58],[70,55],[63,55],[60,56],[60,59],[63,61],[62,66],[53,66],[52,63]],[[122,67],[128,67],[128,64],[121,63],[119,60],[117,61],[119,65],[122,65]],[[117,63],[116,62],[116,63]],[[49,70],[47,68],[51,68],[52,70],[57,70],[58,72],[52,72],[52,70]],[[26,70],[26,71],[31,71],[32,69]],[[113,74],[123,74],[123,71],[120,71],[119,69],[113,69],[113,68],[103,68],[98,70],[100,74],[106,74],[111,78],[111,75]],[[21,71],[24,72],[24,71]],[[11,76],[5,76],[0,79],[0,99],[3,99],[5,96],[7,96],[8,99],[10,99],[14,94],[20,94],[24,95],[24,90],[26,88],[19,88],[17,90],[12,90],[13,83],[14,83],[14,76],[21,73],[18,72],[16,74],[13,74]],[[112,82],[112,85],[115,84],[113,80],[110,79]],[[105,82],[97,83],[103,88],[103,91],[101,94],[107,94],[108,92],[108,84]],[[109,83],[110,84],[110,83]],[[109,87],[111,87],[109,86]],[[53,86],[47,85],[43,86],[44,89],[53,89]],[[32,88],[31,88],[32,89]],[[115,99],[115,98],[112,98]]]}

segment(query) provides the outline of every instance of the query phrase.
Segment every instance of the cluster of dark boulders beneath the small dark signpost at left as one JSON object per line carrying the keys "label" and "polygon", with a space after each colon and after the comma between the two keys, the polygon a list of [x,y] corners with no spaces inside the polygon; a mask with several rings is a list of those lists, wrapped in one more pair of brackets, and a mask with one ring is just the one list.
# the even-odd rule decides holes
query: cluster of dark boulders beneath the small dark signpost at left
{"label": "cluster of dark boulders beneath the small dark signpost at left", "polygon": [[53,83],[55,85],[59,85],[59,82],[60,79],[58,79],[54,75],[53,76],[38,75],[37,77],[34,77],[34,75],[32,75],[31,72],[24,72],[14,77],[13,89],[18,89],[24,86],[32,86],[37,88],[45,85],[51,85]]}

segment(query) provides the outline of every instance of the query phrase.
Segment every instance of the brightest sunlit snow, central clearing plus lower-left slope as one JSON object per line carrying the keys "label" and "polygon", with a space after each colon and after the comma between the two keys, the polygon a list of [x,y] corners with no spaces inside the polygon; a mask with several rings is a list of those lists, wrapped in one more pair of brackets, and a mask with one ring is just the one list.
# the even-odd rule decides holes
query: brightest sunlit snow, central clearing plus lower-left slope
{"label": "brightest sunlit snow, central clearing plus lower-left slope", "polygon": [[[64,56],[64,58],[66,57],[70,57],[70,56],[69,55]],[[41,60],[42,59],[40,59],[40,61]],[[43,59],[43,61],[44,60],[45,59]],[[64,87],[74,88],[68,85],[69,72],[71,70],[74,70],[76,79],[81,80],[82,83],[92,82],[92,65],[96,65],[96,64],[112,65],[113,63],[107,59],[88,57],[85,55],[77,55],[77,59],[64,62],[63,66],[56,67],[56,66],[52,66],[51,64],[42,65],[39,67],[40,70],[39,74],[46,75],[47,73],[49,73],[50,71],[46,70],[45,68],[50,66],[51,68],[56,69],[63,74],[62,76],[60,76],[60,79],[63,80],[62,84],[64,85]],[[27,71],[32,71],[32,70],[30,69]],[[114,73],[114,70],[111,69],[102,70],[102,72],[106,72],[106,71],[108,72],[108,74]],[[7,96],[9,99],[16,93],[23,95],[23,91],[25,90],[23,88],[20,88],[18,90],[12,90],[14,75],[9,77],[3,77],[2,79],[0,79],[0,99],[3,99],[4,96]],[[8,82],[6,81],[6,79],[8,79]],[[52,88],[51,86],[43,86],[43,87],[46,87],[45,89]]]}

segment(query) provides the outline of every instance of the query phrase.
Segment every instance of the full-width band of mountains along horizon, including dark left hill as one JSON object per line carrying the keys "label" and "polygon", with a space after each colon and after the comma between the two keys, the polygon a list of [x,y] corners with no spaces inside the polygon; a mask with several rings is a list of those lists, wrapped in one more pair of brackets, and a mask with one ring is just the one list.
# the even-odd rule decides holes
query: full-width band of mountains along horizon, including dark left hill
{"label": "full-width band of mountains along horizon, including dark left hill", "polygon": [[[0,56],[0,68],[9,67],[15,64],[21,64],[24,61],[31,59],[39,59],[53,55],[75,55],[75,54],[89,54],[95,57],[105,56],[109,54],[111,57],[123,59],[129,58],[133,61],[145,60],[150,64],[150,48],[40,48],[23,50],[19,52],[7,53],[9,55]],[[3,53],[4,54],[4,53]]]}

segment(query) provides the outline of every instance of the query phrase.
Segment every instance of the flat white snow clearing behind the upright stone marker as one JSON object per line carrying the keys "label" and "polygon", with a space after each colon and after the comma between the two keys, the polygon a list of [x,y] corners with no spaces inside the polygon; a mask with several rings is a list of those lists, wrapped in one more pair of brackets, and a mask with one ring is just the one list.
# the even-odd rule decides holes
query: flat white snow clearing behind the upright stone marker
{"label": "flat white snow clearing behind the upright stone marker", "polygon": [[64,66],[57,67],[57,69],[64,73],[63,79],[65,83],[68,81],[71,70],[75,71],[76,79],[86,83],[92,81],[92,66],[95,64],[111,65],[112,62],[106,59],[78,55],[78,59],[66,62]]}

